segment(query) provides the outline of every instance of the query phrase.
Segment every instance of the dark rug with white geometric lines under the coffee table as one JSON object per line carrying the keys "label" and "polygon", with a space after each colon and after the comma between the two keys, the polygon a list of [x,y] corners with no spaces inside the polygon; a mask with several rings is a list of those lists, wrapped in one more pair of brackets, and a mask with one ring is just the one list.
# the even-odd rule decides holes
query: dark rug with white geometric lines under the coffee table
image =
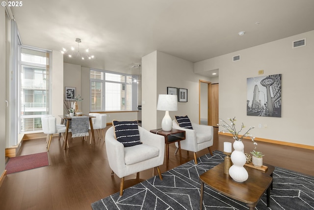
{"label": "dark rug with white geometric lines under the coffee table", "polygon": [[[199,176],[223,162],[225,155],[214,151],[162,174],[92,203],[93,210],[199,210]],[[228,198],[205,184],[203,209],[249,209],[245,203]],[[256,210],[314,210],[314,177],[275,167],[270,208],[264,194]]]}

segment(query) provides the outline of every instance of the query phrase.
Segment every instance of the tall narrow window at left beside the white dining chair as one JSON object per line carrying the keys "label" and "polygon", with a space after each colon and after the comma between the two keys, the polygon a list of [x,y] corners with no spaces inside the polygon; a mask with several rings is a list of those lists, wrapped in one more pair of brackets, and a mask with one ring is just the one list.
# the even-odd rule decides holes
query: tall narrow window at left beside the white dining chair
{"label": "tall narrow window at left beside the white dining chair", "polygon": [[49,58],[48,51],[21,47],[21,132],[42,130],[41,116],[49,114]]}

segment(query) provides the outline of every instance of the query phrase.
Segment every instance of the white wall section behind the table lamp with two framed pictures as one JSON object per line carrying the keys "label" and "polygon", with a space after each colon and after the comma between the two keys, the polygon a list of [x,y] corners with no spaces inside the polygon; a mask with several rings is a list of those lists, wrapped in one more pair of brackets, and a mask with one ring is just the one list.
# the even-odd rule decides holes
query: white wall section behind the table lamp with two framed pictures
{"label": "white wall section behind the table lamp with two framed pictures", "polygon": [[[167,87],[187,89],[187,102],[178,102],[175,115],[187,115],[191,121],[198,123],[199,80],[209,78],[194,74],[193,63],[160,51],[155,51],[142,58],[142,125],[145,129],[161,127],[164,111],[157,111],[158,94],[167,94]],[[156,89],[157,87],[157,89]]]}

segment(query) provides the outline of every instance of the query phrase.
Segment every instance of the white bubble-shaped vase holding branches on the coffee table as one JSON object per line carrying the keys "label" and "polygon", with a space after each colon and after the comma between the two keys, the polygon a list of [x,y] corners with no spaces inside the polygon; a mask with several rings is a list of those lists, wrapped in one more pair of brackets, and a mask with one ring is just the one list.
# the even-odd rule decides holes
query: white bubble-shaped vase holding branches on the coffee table
{"label": "white bubble-shaped vase holding branches on the coffee table", "polygon": [[236,182],[243,182],[249,178],[249,174],[243,167],[246,162],[246,157],[243,152],[244,145],[242,141],[235,140],[233,146],[235,149],[231,153],[231,161],[233,165],[229,169],[229,175]]}

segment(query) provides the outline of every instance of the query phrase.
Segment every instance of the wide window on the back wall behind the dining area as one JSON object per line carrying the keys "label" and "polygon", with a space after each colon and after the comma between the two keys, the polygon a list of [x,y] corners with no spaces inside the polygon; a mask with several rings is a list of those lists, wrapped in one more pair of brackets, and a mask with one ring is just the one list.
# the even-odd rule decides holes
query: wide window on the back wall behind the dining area
{"label": "wide window on the back wall behind the dining area", "polygon": [[91,69],[91,111],[137,110],[137,77]]}

